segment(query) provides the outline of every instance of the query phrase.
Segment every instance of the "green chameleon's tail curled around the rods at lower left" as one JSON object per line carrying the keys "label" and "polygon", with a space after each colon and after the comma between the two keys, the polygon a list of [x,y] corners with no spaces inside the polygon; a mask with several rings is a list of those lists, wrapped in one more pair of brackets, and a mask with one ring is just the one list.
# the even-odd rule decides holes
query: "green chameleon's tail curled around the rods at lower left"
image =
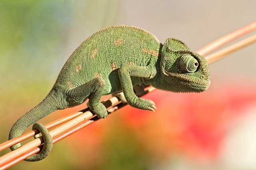
{"label": "green chameleon's tail curled around the rods at lower left", "polygon": [[[37,106],[23,114],[12,126],[9,132],[9,139],[11,140],[13,138],[16,138],[24,132],[28,126],[34,124],[38,120],[44,118],[51,112],[54,112],[55,110],[58,110],[58,106],[56,104],[58,103],[56,98],[54,98],[54,93],[51,91],[42,102],[40,102]],[[48,130],[45,128],[44,125],[40,123],[35,123],[32,127],[32,129],[38,129],[43,136],[44,139],[44,147],[41,152],[38,154],[34,154],[28,158],[26,158],[26,161],[38,161],[44,159],[50,152],[52,148],[52,137],[50,136]],[[15,150],[21,146],[20,143],[15,144],[10,147],[11,150]]]}

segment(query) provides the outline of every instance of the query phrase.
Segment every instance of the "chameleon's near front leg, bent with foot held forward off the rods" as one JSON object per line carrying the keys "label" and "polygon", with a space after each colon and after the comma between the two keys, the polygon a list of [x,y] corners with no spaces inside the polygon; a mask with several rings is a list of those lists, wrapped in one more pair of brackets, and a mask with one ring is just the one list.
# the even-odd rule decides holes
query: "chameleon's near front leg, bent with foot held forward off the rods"
{"label": "chameleon's near front leg, bent with foot held forward off the rods", "polygon": [[139,98],[134,94],[130,76],[151,78],[155,70],[150,66],[124,65],[118,70],[122,90],[127,103],[135,108],[154,111],[156,106],[152,100]]}

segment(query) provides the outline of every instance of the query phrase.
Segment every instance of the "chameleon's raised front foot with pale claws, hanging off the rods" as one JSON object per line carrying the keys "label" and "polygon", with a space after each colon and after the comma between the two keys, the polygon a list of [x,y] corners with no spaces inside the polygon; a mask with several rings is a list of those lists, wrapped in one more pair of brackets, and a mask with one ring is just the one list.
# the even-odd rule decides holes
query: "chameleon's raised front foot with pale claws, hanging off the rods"
{"label": "chameleon's raised front foot with pale claws, hanging off the rods", "polygon": [[156,109],[156,105],[152,100],[146,98],[136,98],[136,101],[130,104],[132,107],[144,109],[144,110],[151,110],[154,111]]}

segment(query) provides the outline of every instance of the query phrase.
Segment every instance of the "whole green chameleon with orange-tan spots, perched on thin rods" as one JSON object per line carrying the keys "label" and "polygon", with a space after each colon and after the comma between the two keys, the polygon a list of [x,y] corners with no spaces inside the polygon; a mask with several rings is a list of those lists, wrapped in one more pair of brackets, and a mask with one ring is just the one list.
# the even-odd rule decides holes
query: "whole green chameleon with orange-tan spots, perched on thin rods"
{"label": "whole green chameleon with orange-tan spots, perched on thin rods", "polygon": [[[108,116],[100,102],[102,95],[117,94],[132,107],[152,110],[152,100],[134,94],[135,84],[172,92],[202,92],[210,85],[206,60],[180,40],[168,38],[164,44],[150,32],[134,26],[111,26],[87,38],[62,67],[49,94],[22,115],[12,126],[9,140],[28,126],[58,109],[77,106],[87,99],[100,118]],[[35,123],[44,138],[42,151],[26,159],[38,161],[52,148],[52,137],[44,125]],[[11,150],[20,143],[11,146]]]}

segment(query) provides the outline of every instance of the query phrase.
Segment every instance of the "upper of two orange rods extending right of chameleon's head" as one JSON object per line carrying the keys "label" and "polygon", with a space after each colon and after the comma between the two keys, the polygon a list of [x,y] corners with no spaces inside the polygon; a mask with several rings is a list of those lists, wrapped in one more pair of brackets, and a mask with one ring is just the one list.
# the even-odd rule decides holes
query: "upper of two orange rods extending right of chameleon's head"
{"label": "upper of two orange rods extending right of chameleon's head", "polygon": [[242,28],[239,28],[238,30],[235,30],[234,32],[231,32],[230,34],[227,34],[223,36],[222,38],[219,38],[218,40],[215,40],[211,42],[210,44],[200,48],[198,50],[198,54],[201,56],[205,56],[209,52],[212,52],[213,50],[216,50],[217,48],[227,44],[228,42],[231,42],[245,34],[248,34],[249,32],[252,32],[253,30],[256,30],[256,21],[243,26]]}

